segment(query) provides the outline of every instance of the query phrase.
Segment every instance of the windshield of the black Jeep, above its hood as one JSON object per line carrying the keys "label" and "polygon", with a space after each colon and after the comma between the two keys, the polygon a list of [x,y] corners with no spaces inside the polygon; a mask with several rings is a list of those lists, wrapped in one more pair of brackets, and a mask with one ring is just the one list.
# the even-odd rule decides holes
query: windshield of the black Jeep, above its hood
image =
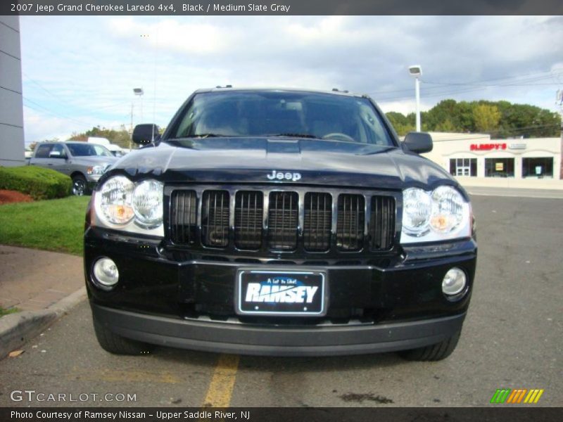
{"label": "windshield of the black Jeep, above its hood", "polygon": [[292,91],[196,94],[172,138],[296,136],[393,146],[367,98]]}

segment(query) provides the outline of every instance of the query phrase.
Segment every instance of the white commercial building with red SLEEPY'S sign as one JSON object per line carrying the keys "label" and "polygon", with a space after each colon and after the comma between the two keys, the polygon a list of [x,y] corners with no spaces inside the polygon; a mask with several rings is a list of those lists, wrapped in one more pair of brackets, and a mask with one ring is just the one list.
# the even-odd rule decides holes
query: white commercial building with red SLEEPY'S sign
{"label": "white commercial building with red SLEEPY'S sign", "polygon": [[487,134],[431,132],[424,156],[455,177],[552,179],[562,177],[562,138],[491,139]]}

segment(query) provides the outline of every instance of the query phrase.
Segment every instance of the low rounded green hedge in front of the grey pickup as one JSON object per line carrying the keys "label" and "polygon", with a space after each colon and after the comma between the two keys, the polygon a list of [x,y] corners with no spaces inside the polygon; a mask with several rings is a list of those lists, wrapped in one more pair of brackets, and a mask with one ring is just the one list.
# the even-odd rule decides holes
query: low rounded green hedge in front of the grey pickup
{"label": "low rounded green hedge in front of the grey pickup", "polygon": [[0,167],[0,189],[27,193],[33,199],[64,198],[72,191],[72,180],[41,167]]}

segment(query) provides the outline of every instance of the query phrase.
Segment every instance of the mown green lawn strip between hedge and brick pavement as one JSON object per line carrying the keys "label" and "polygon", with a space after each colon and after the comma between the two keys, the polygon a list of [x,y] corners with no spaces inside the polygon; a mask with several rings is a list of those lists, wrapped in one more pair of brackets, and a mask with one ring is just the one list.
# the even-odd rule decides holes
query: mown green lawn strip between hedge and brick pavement
{"label": "mown green lawn strip between hedge and brick pavement", "polygon": [[82,255],[89,196],[0,205],[0,243]]}

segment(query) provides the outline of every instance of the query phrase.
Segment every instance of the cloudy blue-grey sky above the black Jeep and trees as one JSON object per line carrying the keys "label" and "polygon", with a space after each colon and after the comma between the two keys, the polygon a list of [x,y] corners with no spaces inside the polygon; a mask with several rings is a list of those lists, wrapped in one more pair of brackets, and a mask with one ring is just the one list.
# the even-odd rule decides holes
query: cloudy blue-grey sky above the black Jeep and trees
{"label": "cloudy blue-grey sky above the black Jeep and trees", "polygon": [[384,111],[445,98],[557,111],[563,17],[20,17],[27,143],[93,126],[165,126],[198,88],[276,86],[367,93]]}

